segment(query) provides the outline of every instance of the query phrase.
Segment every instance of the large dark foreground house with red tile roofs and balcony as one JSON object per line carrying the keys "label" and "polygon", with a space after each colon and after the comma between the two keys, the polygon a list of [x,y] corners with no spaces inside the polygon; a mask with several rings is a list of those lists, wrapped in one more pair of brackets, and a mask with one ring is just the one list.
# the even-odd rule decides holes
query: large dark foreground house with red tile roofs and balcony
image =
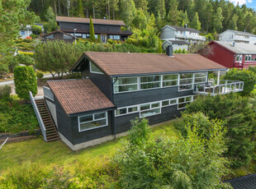
{"label": "large dark foreground house with red tile roofs and balcony", "polygon": [[198,54],[83,53],[70,71],[79,80],[48,81],[45,102],[60,138],[72,150],[121,136],[130,120],[149,124],[180,116],[196,95],[243,90],[243,82],[208,81],[226,68]]}

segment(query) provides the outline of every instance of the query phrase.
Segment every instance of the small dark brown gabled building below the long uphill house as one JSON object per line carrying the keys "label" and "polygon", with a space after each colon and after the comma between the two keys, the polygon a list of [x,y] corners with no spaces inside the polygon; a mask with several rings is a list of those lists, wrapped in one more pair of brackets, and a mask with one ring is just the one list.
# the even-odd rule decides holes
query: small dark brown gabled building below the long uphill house
{"label": "small dark brown gabled building below the long uphill house", "polygon": [[69,35],[61,30],[55,30],[48,34],[42,35],[43,40],[46,42],[47,40],[64,40],[65,42],[73,43],[75,37],[73,35]]}

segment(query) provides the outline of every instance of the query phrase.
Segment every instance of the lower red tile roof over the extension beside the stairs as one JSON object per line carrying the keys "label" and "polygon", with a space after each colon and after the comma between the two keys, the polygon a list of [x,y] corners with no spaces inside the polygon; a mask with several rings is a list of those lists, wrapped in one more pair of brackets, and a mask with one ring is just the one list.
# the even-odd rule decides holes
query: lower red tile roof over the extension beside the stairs
{"label": "lower red tile roof over the extension beside the stairs", "polygon": [[47,83],[67,115],[115,107],[89,79]]}

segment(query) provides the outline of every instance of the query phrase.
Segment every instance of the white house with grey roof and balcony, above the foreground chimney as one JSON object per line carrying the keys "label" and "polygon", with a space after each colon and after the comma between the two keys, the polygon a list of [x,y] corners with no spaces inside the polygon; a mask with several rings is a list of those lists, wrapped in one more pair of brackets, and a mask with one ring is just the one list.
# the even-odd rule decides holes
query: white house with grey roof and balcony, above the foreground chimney
{"label": "white house with grey roof and balcony, above the foreground chimney", "polygon": [[162,29],[160,39],[162,40],[180,40],[186,41],[189,44],[201,43],[206,40],[206,37],[199,35],[200,31],[192,28],[165,25]]}

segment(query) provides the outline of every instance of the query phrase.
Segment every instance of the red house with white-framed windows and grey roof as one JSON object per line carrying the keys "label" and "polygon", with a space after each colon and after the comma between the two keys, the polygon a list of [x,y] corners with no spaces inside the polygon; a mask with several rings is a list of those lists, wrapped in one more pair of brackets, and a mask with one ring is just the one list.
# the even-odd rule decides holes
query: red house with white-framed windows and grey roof
{"label": "red house with white-framed windows and grey roof", "polygon": [[224,67],[246,69],[256,65],[256,45],[211,41],[201,55],[221,64]]}

